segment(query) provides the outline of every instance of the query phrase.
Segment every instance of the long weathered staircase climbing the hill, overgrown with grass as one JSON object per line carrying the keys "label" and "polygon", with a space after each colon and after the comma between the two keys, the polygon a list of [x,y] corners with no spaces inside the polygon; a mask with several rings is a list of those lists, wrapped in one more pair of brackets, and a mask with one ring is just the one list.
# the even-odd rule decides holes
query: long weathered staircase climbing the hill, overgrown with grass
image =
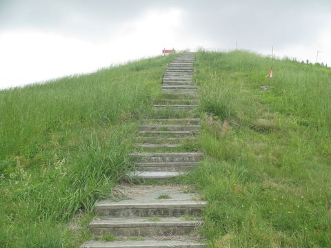
{"label": "long weathered staircase climbing the hill, overgrown with grass", "polygon": [[154,113],[165,112],[169,118],[146,119],[140,126],[137,151],[130,155],[132,172],[126,175],[126,180],[140,184],[126,185],[127,192],[136,193],[127,196],[124,191],[121,200],[100,200],[95,205],[98,217],[90,223],[90,231],[97,237],[110,234],[116,241],[91,240],[82,248],[205,247],[197,232],[205,201],[192,190],[169,185],[203,159],[198,149],[187,148],[197,143],[201,128],[194,115],[198,94],[192,84],[193,62],[194,54],[181,54],[165,71],[163,98],[154,103]]}

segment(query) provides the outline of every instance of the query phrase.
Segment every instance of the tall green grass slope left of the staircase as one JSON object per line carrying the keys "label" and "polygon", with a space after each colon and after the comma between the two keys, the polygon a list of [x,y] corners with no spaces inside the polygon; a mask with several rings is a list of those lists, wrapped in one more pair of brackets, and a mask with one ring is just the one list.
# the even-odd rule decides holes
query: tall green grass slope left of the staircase
{"label": "tall green grass slope left of the staircase", "polygon": [[[78,247],[173,56],[0,92],[0,246]],[[79,218],[78,218],[78,217]]]}

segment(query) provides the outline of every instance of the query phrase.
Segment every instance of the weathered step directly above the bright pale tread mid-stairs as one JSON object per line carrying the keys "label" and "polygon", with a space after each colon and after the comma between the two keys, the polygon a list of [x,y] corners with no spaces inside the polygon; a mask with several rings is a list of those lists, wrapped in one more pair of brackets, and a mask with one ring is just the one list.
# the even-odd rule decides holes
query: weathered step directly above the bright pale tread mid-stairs
{"label": "weathered step directly above the bright pale tread mid-stairs", "polygon": [[135,168],[140,172],[187,172],[198,165],[200,165],[199,162],[134,164]]}

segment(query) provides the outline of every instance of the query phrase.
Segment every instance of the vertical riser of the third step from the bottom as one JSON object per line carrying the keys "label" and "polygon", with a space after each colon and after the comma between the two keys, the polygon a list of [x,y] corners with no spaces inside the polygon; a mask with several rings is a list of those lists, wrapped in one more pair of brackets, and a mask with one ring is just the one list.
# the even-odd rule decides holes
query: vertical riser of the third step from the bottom
{"label": "vertical riser of the third step from the bottom", "polygon": [[160,209],[95,209],[99,216],[108,217],[180,217],[185,214],[198,215],[201,214],[201,209],[197,207],[182,207],[174,208],[160,208]]}

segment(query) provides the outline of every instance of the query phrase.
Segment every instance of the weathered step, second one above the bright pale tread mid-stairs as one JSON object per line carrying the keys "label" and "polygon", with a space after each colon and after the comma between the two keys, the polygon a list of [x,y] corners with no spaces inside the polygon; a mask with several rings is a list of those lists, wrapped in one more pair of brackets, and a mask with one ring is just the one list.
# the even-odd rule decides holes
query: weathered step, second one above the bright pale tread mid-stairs
{"label": "weathered step, second one above the bright pale tread mid-stairs", "polygon": [[202,152],[132,153],[130,156],[133,162],[139,163],[199,162],[203,159]]}

